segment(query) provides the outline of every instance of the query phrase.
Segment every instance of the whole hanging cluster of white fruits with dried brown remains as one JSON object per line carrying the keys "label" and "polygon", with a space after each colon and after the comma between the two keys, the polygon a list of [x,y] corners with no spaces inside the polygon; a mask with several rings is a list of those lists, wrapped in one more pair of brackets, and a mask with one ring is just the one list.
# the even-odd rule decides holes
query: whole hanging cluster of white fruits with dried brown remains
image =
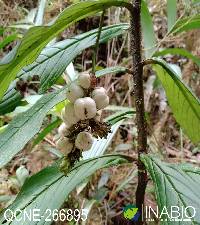
{"label": "whole hanging cluster of white fruits with dried brown remains", "polygon": [[110,127],[100,118],[101,110],[109,104],[109,97],[103,87],[96,87],[96,78],[86,72],[70,84],[66,97],[70,103],[61,112],[63,123],[58,128],[56,147],[65,156],[72,156],[76,151],[81,154],[89,150],[93,136],[107,136]]}

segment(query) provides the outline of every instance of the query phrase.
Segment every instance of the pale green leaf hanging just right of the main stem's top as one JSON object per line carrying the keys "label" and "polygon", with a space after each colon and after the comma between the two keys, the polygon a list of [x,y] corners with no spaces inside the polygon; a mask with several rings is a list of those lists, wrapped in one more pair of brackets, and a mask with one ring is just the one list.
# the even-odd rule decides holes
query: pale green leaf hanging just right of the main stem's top
{"label": "pale green leaf hanging just right of the main stem's top", "polygon": [[147,3],[144,0],[142,1],[142,8],[141,8],[141,23],[142,23],[145,57],[150,58],[156,51],[157,41],[153,29],[152,18],[149,13]]}

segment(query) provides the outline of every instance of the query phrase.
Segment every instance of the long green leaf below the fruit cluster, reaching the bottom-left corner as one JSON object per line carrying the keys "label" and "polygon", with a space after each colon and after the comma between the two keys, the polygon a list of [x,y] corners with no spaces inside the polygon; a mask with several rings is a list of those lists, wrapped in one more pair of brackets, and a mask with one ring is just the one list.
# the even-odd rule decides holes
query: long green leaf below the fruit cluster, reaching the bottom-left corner
{"label": "long green leaf below the fruit cluster, reaching the bottom-left corner", "polygon": [[[98,158],[84,160],[74,166],[71,172],[65,177],[57,165],[48,167],[28,179],[14,203],[9,207],[11,210],[21,209],[22,211],[40,209],[41,220],[39,224],[51,224],[52,221],[45,221],[47,209],[59,209],[67,199],[69,193],[84,179],[91,176],[96,170],[108,166],[128,162],[129,158],[120,155],[105,155]],[[42,217],[43,216],[43,217]],[[0,222],[5,220],[3,213],[0,215]],[[5,223],[5,225],[19,224],[17,220]],[[20,225],[36,225],[38,221],[21,221]]]}

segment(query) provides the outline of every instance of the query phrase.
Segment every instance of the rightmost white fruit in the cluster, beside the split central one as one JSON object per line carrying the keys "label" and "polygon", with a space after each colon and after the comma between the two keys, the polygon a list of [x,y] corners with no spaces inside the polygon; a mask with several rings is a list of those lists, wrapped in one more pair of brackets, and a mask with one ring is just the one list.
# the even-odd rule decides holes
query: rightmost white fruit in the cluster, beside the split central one
{"label": "rightmost white fruit in the cluster, beside the split central one", "polygon": [[97,109],[104,109],[109,105],[109,97],[106,94],[106,90],[102,88],[96,88],[92,92],[92,98],[96,102]]}

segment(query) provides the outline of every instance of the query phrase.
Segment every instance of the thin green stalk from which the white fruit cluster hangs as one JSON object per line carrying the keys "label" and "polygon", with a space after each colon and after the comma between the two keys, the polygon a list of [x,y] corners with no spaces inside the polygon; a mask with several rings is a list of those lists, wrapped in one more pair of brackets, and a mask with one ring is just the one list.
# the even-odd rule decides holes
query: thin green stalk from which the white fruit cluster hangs
{"label": "thin green stalk from which the white fruit cluster hangs", "polygon": [[95,74],[95,67],[96,67],[96,61],[97,61],[97,54],[98,54],[98,49],[99,49],[99,40],[101,37],[101,31],[102,31],[102,27],[103,27],[103,22],[104,22],[104,15],[105,15],[105,10],[102,12],[101,14],[101,19],[99,22],[99,31],[97,34],[97,40],[96,40],[96,44],[94,47],[94,52],[93,52],[93,59],[92,59],[92,73]]}

